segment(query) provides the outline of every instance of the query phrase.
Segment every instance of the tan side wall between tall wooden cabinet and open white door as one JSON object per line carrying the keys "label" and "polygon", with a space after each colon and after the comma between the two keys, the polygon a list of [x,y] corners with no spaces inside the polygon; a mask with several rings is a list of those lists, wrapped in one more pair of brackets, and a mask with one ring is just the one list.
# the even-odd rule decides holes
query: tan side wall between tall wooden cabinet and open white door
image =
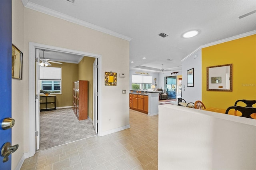
{"label": "tan side wall between tall wooden cabinet and open white door", "polygon": [[88,117],[93,120],[93,63],[95,58],[84,57],[78,64],[78,79],[88,81]]}

